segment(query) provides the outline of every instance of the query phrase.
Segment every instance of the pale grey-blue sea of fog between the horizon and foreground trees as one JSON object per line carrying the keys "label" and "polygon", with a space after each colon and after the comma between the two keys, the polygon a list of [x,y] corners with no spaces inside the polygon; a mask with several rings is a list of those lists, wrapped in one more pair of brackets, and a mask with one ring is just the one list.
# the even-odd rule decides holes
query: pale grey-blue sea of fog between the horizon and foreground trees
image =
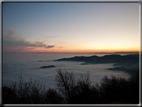
{"label": "pale grey-blue sea of fog between the horizon and foreground trees", "polygon": [[[2,83],[3,86],[9,86],[15,80],[18,81],[22,73],[25,81],[28,78],[38,79],[46,82],[46,86],[55,87],[56,71],[60,68],[79,76],[86,72],[90,73],[92,84],[99,83],[106,75],[111,77],[130,78],[130,75],[122,71],[107,70],[113,68],[112,64],[87,64],[82,62],[53,61],[60,58],[69,58],[74,56],[104,56],[106,54],[91,53],[3,53],[2,60]],[[55,65],[54,68],[41,69],[41,66]]]}

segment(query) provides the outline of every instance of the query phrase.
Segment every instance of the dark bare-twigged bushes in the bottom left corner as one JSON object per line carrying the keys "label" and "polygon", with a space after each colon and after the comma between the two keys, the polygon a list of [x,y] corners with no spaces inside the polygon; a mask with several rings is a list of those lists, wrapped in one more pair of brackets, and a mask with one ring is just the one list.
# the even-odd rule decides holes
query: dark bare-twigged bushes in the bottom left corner
{"label": "dark bare-twigged bushes in the bottom left corner", "polygon": [[26,82],[22,74],[11,86],[3,88],[5,91],[3,103],[7,104],[42,104],[45,93],[45,84],[38,80],[28,79]]}

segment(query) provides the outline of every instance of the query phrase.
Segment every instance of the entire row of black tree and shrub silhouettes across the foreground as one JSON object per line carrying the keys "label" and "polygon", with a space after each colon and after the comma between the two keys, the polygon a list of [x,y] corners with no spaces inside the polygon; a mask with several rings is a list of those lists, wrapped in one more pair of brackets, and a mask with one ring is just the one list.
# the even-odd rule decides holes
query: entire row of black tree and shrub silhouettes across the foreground
{"label": "entire row of black tree and shrub silhouettes across the foreground", "polygon": [[100,84],[93,85],[90,74],[79,77],[66,70],[57,70],[57,88],[45,88],[45,83],[25,79],[2,88],[3,104],[138,104],[139,79],[104,76]]}

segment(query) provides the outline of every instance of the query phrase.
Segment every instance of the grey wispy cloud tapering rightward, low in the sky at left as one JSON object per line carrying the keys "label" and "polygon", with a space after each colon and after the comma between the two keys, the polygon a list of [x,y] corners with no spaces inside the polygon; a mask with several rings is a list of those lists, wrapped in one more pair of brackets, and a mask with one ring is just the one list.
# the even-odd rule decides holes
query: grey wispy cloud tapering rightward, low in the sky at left
{"label": "grey wispy cloud tapering rightward, low in the sky at left", "polygon": [[27,47],[43,47],[43,48],[53,48],[55,45],[47,45],[44,42],[36,41],[30,42],[23,37],[19,37],[16,32],[12,30],[8,30],[3,35],[3,46],[4,48],[13,48],[18,49],[17,47],[23,47],[24,49]]}

